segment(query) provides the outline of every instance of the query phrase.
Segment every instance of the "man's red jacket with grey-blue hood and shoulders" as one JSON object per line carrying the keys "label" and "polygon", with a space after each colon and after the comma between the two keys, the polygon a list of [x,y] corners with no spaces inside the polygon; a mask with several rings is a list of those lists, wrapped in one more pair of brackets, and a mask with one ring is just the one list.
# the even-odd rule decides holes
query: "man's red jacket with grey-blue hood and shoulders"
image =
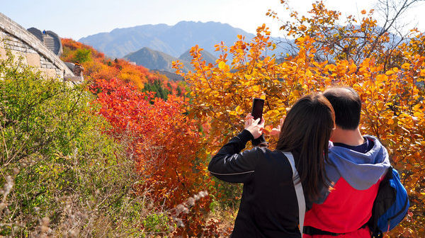
{"label": "man's red jacket with grey-blue hood and shoulders", "polygon": [[379,183],[390,168],[390,159],[376,137],[363,137],[373,142],[373,147],[365,153],[329,142],[329,162],[325,169],[333,189],[330,192],[324,189],[322,197],[306,213],[306,227],[349,234],[358,232],[369,220]]}

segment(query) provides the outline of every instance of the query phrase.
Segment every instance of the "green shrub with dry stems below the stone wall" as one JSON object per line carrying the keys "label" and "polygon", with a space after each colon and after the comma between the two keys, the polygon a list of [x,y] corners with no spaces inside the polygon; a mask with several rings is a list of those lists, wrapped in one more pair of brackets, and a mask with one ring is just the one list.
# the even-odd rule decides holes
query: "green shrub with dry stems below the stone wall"
{"label": "green shrub with dry stems below the stone wall", "polygon": [[94,99],[10,53],[0,60],[0,237],[142,236],[149,199]]}

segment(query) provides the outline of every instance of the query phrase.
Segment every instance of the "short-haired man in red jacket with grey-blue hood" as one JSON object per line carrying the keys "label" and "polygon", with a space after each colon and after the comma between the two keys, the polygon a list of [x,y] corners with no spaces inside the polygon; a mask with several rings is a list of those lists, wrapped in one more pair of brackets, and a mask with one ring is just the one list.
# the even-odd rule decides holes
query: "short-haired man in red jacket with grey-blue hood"
{"label": "short-haired man in red jacket with grey-blue hood", "polygon": [[323,95],[335,111],[326,167],[332,189],[306,212],[303,237],[370,237],[366,223],[390,167],[388,153],[377,138],[361,135],[361,99],[356,91],[339,87]]}

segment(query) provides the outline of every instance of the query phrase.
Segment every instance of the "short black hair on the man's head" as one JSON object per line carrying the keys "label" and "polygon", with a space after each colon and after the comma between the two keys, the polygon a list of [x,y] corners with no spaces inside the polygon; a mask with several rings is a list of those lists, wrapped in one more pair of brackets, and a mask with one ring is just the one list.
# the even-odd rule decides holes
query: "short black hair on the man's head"
{"label": "short black hair on the man's head", "polygon": [[344,130],[356,130],[360,123],[361,99],[354,89],[334,87],[324,91],[323,96],[335,112],[335,124]]}

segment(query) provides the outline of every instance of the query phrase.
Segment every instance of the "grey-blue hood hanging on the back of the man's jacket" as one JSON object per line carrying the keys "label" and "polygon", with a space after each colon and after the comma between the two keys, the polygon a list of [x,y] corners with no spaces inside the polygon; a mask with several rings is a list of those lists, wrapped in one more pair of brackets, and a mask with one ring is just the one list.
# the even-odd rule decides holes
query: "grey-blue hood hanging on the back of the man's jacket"
{"label": "grey-blue hood hanging on the back of the man's jacket", "polygon": [[329,142],[329,161],[350,186],[357,190],[373,186],[390,167],[387,149],[376,137],[364,137],[374,142],[373,148],[365,154],[337,147]]}

